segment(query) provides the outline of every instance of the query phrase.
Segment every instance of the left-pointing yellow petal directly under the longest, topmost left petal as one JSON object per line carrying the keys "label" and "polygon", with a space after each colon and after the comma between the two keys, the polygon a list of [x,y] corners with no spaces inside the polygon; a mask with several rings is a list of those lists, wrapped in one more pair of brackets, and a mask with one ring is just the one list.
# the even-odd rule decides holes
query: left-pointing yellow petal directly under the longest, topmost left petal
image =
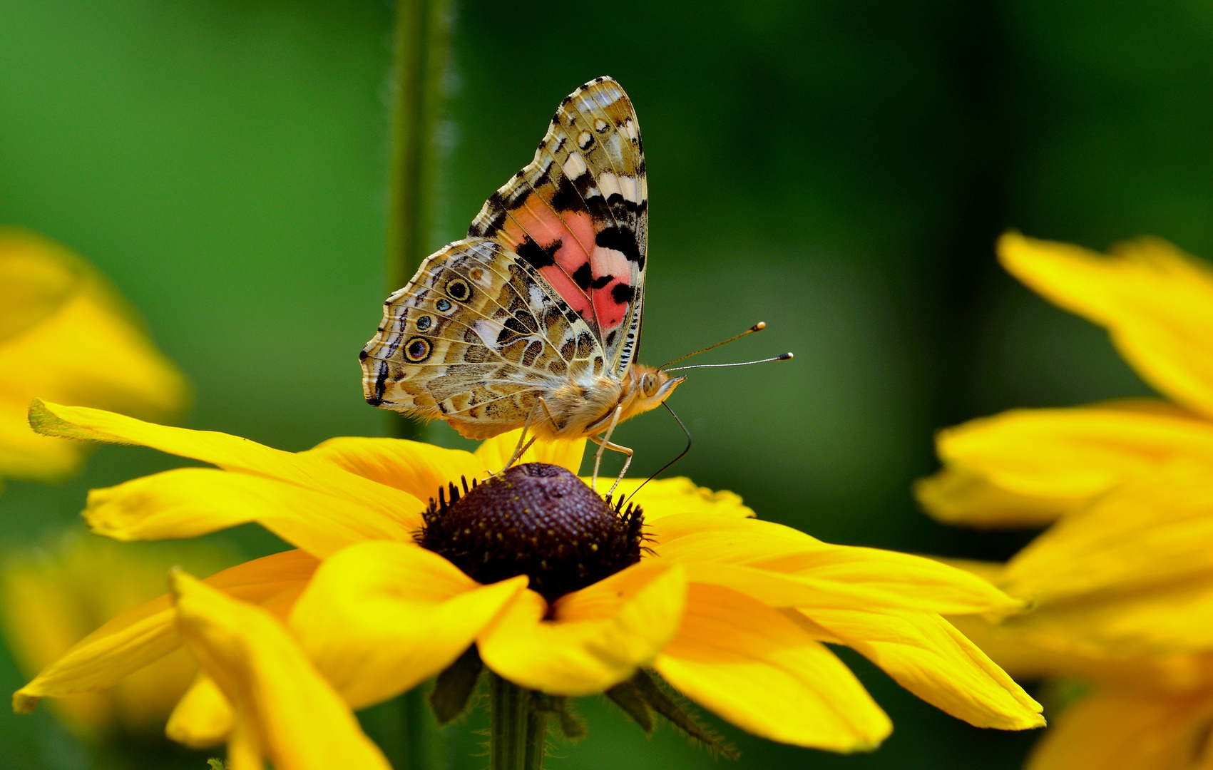
{"label": "left-pointing yellow petal directly under the longest, topmost left petal", "polygon": [[247,473],[178,468],[92,490],[84,517],[93,532],[124,541],[197,537],[258,521],[323,558],[366,540],[411,540],[421,517],[409,513],[389,518],[357,497]]}

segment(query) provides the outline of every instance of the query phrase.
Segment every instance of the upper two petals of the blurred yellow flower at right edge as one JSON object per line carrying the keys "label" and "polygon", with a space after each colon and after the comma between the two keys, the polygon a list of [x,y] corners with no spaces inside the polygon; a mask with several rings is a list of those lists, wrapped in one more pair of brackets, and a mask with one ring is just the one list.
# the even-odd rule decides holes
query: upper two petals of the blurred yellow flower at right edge
{"label": "upper two petals of the blurred yellow flower at right edge", "polygon": [[1105,326],[1129,365],[1173,403],[1013,410],[943,430],[944,470],[916,489],[932,515],[970,526],[1040,526],[1174,460],[1213,463],[1208,266],[1156,239],[1104,257],[1009,233],[998,255],[1031,289]]}

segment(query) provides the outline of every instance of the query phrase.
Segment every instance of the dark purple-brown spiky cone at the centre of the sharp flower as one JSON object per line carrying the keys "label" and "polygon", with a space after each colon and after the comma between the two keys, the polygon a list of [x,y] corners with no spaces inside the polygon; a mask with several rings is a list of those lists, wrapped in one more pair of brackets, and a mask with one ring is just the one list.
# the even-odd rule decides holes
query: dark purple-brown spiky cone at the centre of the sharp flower
{"label": "dark purple-brown spiky cone at the centre of the sharp flower", "polygon": [[514,466],[462,495],[451,484],[423,517],[422,547],[482,583],[526,575],[548,601],[640,560],[640,509],[613,508],[559,466]]}

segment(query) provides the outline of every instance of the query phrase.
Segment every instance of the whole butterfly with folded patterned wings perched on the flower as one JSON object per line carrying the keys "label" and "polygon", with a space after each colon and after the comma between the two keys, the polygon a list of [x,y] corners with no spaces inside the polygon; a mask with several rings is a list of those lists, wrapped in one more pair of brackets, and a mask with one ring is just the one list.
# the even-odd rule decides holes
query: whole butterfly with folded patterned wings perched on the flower
{"label": "whole butterfly with folded patterned wings perched on the flower", "polygon": [[596,78],[560,102],[534,160],[467,238],[387,298],[361,352],[366,401],[468,439],[519,427],[586,437],[602,447],[594,477],[603,449],[627,455],[626,472],[632,450],[610,433],[685,380],[636,361],[648,229],[636,110],[619,82]]}

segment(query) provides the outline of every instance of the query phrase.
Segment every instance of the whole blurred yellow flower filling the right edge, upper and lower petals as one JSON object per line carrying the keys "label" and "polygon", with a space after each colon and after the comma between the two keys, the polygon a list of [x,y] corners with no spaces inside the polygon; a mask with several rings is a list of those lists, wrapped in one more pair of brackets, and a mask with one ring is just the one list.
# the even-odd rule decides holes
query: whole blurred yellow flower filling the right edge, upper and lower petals
{"label": "whole blurred yellow flower filling the right edge, upper and lower petals", "polygon": [[1003,264],[1110,331],[1171,398],[1016,410],[939,435],[916,492],[936,518],[1050,524],[1006,565],[967,564],[1032,612],[952,618],[1018,677],[1092,692],[1031,770],[1213,766],[1213,270],[1160,240],[1104,257],[1016,234]]}

